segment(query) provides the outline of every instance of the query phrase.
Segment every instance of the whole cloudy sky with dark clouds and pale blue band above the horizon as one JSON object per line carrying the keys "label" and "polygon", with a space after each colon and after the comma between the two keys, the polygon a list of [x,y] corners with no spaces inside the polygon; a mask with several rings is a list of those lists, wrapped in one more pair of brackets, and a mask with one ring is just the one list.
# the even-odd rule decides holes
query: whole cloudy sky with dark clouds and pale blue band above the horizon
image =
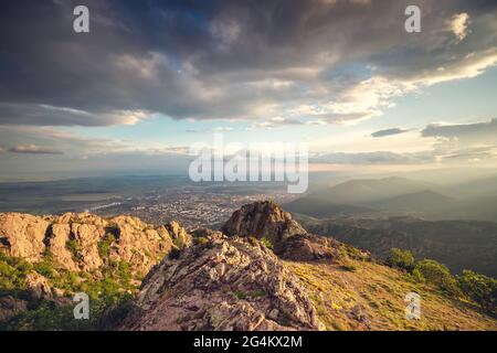
{"label": "whole cloudy sky with dark clouds and pale blue band above the horizon", "polygon": [[0,4],[0,179],[184,173],[214,133],[311,170],[495,168],[496,93],[493,0]]}

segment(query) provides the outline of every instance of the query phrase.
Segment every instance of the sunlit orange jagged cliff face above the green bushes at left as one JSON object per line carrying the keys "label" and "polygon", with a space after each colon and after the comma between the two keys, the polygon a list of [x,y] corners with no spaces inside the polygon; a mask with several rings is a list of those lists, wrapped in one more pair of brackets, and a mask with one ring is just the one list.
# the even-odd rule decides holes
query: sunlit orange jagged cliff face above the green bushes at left
{"label": "sunlit orange jagged cliff face above the green bushes at left", "polygon": [[0,250],[30,263],[51,254],[57,267],[72,271],[91,272],[109,261],[126,261],[134,272],[145,275],[171,248],[190,243],[191,236],[177,222],[154,228],[130,216],[0,214]]}

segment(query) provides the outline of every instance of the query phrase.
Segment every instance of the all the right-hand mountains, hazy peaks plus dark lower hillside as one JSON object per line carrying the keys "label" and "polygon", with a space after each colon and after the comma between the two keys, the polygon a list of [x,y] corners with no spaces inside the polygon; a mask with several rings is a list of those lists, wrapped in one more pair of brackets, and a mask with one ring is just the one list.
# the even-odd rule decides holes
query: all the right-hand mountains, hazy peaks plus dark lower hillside
{"label": "all the right-hand mountains, hazy peaks plus dark lower hillside", "polygon": [[497,276],[496,178],[450,188],[404,178],[351,180],[285,208],[310,232],[379,257],[400,247],[456,272]]}

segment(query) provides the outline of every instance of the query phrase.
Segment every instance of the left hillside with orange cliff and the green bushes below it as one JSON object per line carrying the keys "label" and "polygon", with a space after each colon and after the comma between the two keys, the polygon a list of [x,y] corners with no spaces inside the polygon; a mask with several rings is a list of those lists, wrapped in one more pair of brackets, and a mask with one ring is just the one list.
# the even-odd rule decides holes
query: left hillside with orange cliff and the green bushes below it
{"label": "left hillside with orange cliff and the green bushes below it", "polygon": [[[176,222],[152,227],[129,216],[0,214],[0,328],[11,320],[11,329],[57,329],[71,320],[67,306],[78,291],[102,313],[130,299],[154,265],[190,242]],[[66,328],[72,324],[80,323]]]}

